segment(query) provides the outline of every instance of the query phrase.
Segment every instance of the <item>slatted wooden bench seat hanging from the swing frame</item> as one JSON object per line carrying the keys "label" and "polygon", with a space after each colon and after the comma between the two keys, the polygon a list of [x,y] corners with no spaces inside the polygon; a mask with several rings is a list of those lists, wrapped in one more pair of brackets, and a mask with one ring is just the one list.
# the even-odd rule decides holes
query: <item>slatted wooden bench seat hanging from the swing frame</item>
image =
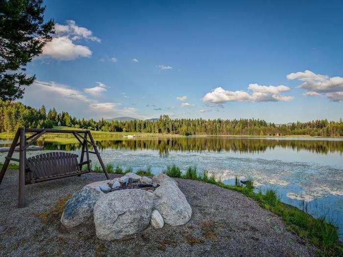
{"label": "slatted wooden bench seat hanging from the swing frame", "polygon": [[90,164],[91,160],[79,164],[77,157],[72,153],[50,152],[27,158],[25,185],[91,172],[82,170],[82,165]]}

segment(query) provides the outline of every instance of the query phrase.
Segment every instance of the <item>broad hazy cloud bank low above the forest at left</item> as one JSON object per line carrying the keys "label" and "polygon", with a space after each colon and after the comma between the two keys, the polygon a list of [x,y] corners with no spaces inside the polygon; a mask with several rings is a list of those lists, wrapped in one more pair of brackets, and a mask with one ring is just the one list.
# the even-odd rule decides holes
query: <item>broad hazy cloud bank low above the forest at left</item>
{"label": "broad hazy cloud bank low above the forest at left", "polygon": [[[98,87],[106,86],[98,82]],[[38,98],[37,95],[40,97]],[[117,116],[147,118],[139,115],[137,108],[122,107],[122,104],[115,102],[100,102],[91,96],[93,95],[88,96],[82,91],[56,82],[35,81],[30,86],[30,90],[25,92],[23,103],[39,108],[44,102],[47,103],[47,108],[55,107],[60,111],[73,110],[71,115],[85,118]]]}

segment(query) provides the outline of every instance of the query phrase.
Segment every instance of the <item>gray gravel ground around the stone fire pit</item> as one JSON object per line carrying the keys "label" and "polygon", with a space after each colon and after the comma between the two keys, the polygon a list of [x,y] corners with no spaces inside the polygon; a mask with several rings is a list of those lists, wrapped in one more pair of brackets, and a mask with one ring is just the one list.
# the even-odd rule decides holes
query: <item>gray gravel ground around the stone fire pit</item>
{"label": "gray gravel ground around the stone fire pit", "polygon": [[[112,178],[120,175],[110,175]],[[26,186],[18,209],[18,171],[0,186],[0,256],[314,256],[316,249],[288,232],[280,218],[240,193],[176,179],[193,214],[183,226],[165,225],[117,241],[102,241],[94,225],[66,229],[68,195],[105,177],[89,173]],[[70,197],[70,196],[69,196]]]}

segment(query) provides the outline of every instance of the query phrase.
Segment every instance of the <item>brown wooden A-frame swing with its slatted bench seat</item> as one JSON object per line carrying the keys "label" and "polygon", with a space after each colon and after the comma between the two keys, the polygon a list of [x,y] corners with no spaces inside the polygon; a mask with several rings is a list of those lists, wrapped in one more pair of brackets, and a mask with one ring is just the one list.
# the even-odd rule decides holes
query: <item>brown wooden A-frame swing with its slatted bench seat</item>
{"label": "brown wooden A-frame swing with its slatted bench seat", "polygon": [[[26,138],[26,133],[33,133]],[[82,145],[80,163],[77,162],[77,155],[65,152],[49,152],[39,154],[26,159],[27,148],[36,142],[45,133],[69,133]],[[89,139],[88,139],[89,137]],[[18,142],[18,140],[20,141]],[[30,140],[30,141],[28,141]],[[93,146],[94,151],[88,150],[88,144]],[[12,158],[14,151],[19,146],[19,159]],[[91,160],[89,154],[96,154],[98,161],[109,179],[105,165],[103,164],[98,147],[94,142],[89,130],[59,130],[59,129],[38,129],[38,128],[19,128],[14,136],[12,145],[0,171],[0,185],[10,161],[19,162],[19,192],[18,206],[25,207],[25,185],[39,183],[70,176],[81,176],[91,172]],[[83,161],[86,154],[86,161]],[[87,165],[83,170],[82,166]]]}

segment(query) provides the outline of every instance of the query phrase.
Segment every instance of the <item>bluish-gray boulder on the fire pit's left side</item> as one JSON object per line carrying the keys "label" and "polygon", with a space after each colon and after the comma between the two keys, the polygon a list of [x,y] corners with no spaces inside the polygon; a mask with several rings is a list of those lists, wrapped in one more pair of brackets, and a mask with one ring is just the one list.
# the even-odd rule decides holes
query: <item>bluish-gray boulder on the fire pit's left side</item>
{"label": "bluish-gray boulder on the fire pit's left side", "polygon": [[64,208],[61,223],[67,228],[73,228],[82,223],[93,221],[93,208],[103,193],[94,187],[83,187],[73,194]]}

